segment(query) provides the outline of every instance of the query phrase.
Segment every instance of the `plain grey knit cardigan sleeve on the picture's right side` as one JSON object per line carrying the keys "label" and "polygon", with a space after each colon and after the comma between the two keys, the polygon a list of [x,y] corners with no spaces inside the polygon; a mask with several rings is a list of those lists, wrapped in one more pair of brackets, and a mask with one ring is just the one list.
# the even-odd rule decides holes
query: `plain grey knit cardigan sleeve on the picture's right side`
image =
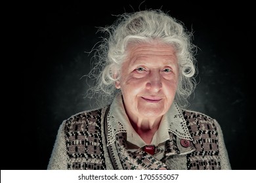
{"label": "plain grey knit cardigan sleeve on the picture's right side", "polygon": [[221,159],[221,169],[222,170],[231,170],[230,161],[228,158],[228,152],[224,143],[223,131],[219,123],[214,120],[215,126],[217,127],[218,132],[218,141],[219,141],[219,158]]}

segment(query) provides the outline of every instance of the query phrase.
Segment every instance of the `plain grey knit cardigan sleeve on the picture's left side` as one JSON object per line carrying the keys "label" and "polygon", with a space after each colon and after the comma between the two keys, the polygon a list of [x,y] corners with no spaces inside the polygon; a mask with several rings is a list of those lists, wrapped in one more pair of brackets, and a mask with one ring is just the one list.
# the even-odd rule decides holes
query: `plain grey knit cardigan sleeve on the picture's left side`
{"label": "plain grey knit cardigan sleeve on the picture's left side", "polygon": [[58,129],[56,140],[53,146],[53,152],[47,166],[48,170],[66,170],[68,169],[68,154],[66,148],[66,138],[64,131],[65,121]]}

